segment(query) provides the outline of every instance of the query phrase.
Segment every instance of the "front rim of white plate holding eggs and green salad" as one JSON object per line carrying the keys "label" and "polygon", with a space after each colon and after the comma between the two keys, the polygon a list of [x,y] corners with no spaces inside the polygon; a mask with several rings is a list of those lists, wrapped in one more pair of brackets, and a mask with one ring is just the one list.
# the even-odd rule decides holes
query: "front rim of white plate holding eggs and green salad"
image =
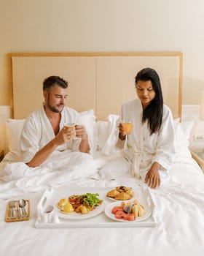
{"label": "front rim of white plate holding eggs and green salad", "polygon": [[104,205],[103,203],[101,203],[100,206],[95,208],[93,211],[90,211],[88,214],[80,214],[80,213],[76,213],[75,211],[71,212],[70,214],[62,214],[61,212],[58,212],[58,217],[62,219],[88,219],[88,218],[95,217],[98,214],[101,214],[103,210],[104,210]]}

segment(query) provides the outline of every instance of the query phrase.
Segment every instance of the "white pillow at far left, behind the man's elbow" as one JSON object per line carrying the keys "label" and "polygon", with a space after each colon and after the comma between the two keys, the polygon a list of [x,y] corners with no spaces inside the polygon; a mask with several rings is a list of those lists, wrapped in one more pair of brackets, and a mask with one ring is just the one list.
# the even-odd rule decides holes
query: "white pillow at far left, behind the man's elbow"
{"label": "white pillow at far left, behind the man's elbow", "polygon": [[5,127],[7,135],[7,143],[9,151],[15,154],[17,158],[20,157],[20,135],[23,129],[23,125],[26,119],[11,119],[8,118]]}

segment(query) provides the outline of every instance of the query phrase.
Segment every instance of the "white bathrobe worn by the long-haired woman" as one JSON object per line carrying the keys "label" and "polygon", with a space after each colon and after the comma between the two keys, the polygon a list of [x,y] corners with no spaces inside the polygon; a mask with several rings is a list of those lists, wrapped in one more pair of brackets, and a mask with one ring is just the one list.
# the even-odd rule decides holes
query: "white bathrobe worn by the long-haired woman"
{"label": "white bathrobe worn by the long-haired woman", "polygon": [[144,178],[153,162],[158,162],[161,172],[165,170],[167,173],[176,157],[176,138],[170,109],[163,106],[160,132],[152,135],[147,122],[141,123],[142,114],[140,99],[133,99],[122,105],[122,120],[133,123],[133,130],[125,139],[123,156],[127,159],[130,173],[137,178]]}

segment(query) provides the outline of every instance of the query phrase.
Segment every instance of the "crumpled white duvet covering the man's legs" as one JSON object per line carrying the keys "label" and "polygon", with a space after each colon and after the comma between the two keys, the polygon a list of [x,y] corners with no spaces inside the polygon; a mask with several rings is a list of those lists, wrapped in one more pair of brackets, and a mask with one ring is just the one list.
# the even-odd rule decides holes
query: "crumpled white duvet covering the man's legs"
{"label": "crumpled white duvet covering the man's legs", "polygon": [[93,176],[97,172],[97,161],[90,154],[80,152],[55,151],[49,161],[39,167],[28,167],[23,162],[6,163],[0,172],[0,197],[38,192]]}

